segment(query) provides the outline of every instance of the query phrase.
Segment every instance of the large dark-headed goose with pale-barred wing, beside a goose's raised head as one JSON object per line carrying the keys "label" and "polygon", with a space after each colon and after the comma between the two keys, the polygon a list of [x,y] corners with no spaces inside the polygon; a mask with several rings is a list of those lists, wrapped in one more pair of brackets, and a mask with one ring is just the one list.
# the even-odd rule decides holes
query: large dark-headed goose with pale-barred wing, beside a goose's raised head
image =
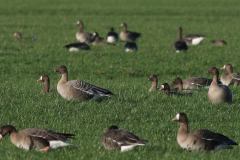
{"label": "large dark-headed goose with pale-barred wing, beside a goose's raised head", "polygon": [[65,99],[68,100],[96,100],[101,96],[111,97],[113,95],[109,90],[100,88],[89,83],[72,80],[68,81],[68,71],[67,68],[62,65],[59,66],[54,72],[59,72],[62,74],[62,78],[57,84],[58,93]]}

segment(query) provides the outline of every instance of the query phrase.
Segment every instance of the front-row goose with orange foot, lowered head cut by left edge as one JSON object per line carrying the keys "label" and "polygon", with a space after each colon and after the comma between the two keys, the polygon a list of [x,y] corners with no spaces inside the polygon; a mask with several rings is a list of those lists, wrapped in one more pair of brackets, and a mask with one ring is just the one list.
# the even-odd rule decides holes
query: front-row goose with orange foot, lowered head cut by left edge
{"label": "front-row goose with orange foot, lowered head cut by left edge", "polygon": [[6,125],[0,128],[0,140],[9,133],[11,142],[18,148],[47,152],[49,149],[70,146],[66,142],[68,138],[73,138],[74,134],[58,133],[51,130],[42,130],[37,128],[28,128],[17,131],[12,125]]}

